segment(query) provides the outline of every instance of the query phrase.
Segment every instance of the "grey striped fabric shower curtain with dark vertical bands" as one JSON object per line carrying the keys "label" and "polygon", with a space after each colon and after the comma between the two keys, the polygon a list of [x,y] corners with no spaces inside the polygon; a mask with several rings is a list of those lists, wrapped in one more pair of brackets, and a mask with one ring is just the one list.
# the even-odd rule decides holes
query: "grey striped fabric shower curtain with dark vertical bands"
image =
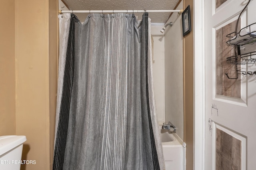
{"label": "grey striped fabric shower curtain with dark vertical bands", "polygon": [[150,18],[59,15],[54,170],[163,170]]}

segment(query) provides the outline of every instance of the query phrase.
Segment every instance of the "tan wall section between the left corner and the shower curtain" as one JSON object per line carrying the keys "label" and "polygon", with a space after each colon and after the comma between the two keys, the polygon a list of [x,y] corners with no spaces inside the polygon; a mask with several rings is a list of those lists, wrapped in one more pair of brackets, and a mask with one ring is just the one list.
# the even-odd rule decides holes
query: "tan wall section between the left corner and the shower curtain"
{"label": "tan wall section between the left corner and the shower curtain", "polygon": [[36,160],[25,165],[26,170],[51,169],[52,164],[57,4],[57,0],[15,1],[16,135],[27,137],[23,158]]}

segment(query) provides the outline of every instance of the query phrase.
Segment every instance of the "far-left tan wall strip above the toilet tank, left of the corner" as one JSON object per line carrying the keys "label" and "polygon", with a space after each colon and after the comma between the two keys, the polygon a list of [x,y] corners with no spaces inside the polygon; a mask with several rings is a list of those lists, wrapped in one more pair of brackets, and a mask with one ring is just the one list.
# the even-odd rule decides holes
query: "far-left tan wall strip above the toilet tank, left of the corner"
{"label": "far-left tan wall strip above the toilet tank, left of the corner", "polygon": [[1,1],[0,136],[15,135],[14,0]]}

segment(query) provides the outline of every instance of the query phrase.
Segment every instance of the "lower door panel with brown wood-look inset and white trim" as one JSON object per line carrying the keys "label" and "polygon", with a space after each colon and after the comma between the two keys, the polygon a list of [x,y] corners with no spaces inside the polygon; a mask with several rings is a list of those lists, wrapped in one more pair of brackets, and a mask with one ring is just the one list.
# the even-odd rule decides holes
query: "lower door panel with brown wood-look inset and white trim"
{"label": "lower door panel with brown wood-look inset and white trim", "polygon": [[213,169],[245,170],[246,137],[213,122]]}

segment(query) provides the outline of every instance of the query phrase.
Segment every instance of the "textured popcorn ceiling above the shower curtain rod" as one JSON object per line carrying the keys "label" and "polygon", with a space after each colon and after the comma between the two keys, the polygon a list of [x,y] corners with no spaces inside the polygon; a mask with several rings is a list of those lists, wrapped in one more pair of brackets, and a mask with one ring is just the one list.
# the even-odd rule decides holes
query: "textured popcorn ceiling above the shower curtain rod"
{"label": "textured popcorn ceiling above the shower curtain rod", "polygon": [[[62,0],[69,10],[173,10],[178,0]],[[180,10],[180,9],[177,9]],[[142,13],[136,13],[141,19]],[[87,14],[78,14],[84,21]],[[165,23],[170,16],[168,12],[148,14],[152,23]]]}

